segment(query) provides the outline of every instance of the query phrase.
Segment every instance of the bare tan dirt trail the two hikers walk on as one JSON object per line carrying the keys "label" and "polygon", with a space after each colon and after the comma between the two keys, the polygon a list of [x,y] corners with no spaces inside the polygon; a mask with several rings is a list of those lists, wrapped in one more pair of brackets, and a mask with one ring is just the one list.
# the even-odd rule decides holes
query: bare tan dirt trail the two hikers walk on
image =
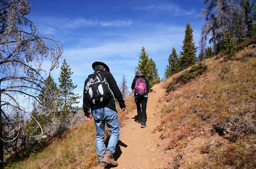
{"label": "bare tan dirt trail the two hikers walk on", "polygon": [[[119,142],[114,154],[118,166],[107,165],[105,168],[115,169],[152,169],[163,168],[166,165],[164,151],[158,148],[160,145],[159,134],[152,133],[159,123],[157,112],[162,108],[158,105],[159,99],[165,94],[161,84],[153,86],[153,92],[148,95],[147,103],[147,127],[142,129],[140,124],[135,122],[137,115],[136,107],[133,113],[128,114],[124,127],[121,128]],[[102,168],[100,165],[95,169]]]}

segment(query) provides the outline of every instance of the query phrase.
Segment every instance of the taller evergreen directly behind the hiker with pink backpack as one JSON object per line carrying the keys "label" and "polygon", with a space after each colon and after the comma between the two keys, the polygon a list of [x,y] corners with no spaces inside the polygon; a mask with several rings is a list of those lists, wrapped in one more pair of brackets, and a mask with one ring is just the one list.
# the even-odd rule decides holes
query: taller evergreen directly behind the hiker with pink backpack
{"label": "taller evergreen directly behind the hiker with pink backpack", "polygon": [[152,87],[154,85],[154,79],[153,79],[153,71],[154,68],[152,65],[154,65],[153,60],[148,58],[148,54],[145,51],[145,48],[142,47],[140,56],[140,60],[138,63],[138,70],[141,70],[142,73],[145,75],[146,79],[148,80],[149,84],[149,90],[152,90]]}

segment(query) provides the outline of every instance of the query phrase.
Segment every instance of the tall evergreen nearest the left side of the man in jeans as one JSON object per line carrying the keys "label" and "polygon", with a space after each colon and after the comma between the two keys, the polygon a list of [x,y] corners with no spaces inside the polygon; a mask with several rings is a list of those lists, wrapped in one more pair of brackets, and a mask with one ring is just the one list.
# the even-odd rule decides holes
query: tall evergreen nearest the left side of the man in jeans
{"label": "tall evergreen nearest the left side of the man in jeans", "polygon": [[77,109],[78,107],[72,106],[73,104],[79,103],[76,99],[80,99],[81,96],[75,94],[73,90],[77,85],[73,85],[71,75],[71,68],[64,59],[63,64],[60,67],[60,77],[59,77],[59,90],[60,90],[60,119],[66,120],[70,116],[69,110]]}

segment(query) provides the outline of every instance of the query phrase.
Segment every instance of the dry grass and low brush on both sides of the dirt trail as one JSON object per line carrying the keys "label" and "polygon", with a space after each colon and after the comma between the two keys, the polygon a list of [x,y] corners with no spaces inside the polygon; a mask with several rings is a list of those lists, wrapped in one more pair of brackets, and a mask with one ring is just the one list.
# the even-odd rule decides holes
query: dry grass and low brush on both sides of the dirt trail
{"label": "dry grass and low brush on both sides of the dirt trail", "polygon": [[[166,95],[158,104],[164,108],[152,132],[159,132],[166,153],[173,155],[170,168],[180,164],[191,169],[256,167],[256,47],[249,44],[230,60],[223,59],[224,52],[205,59],[204,72],[186,83],[176,81],[172,90],[167,86],[191,67],[161,82]],[[125,112],[132,113],[133,96],[126,97],[125,103]],[[125,127],[126,114],[118,109],[118,116]],[[213,138],[218,142],[211,142]],[[185,156],[194,140],[198,158],[189,161]],[[43,151],[6,168],[91,168],[99,165],[94,142],[94,122],[84,121]]]}

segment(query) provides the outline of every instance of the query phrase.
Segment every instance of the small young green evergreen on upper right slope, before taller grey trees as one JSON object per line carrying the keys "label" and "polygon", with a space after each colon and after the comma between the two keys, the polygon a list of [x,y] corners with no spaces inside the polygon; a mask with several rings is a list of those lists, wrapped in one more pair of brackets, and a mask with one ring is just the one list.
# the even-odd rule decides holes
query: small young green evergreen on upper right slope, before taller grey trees
{"label": "small young green evergreen on upper right slope, before taller grey trees", "polygon": [[224,45],[225,50],[227,51],[227,55],[224,57],[225,60],[230,59],[232,56],[236,55],[236,50],[234,49],[235,43],[230,32],[227,32],[227,35],[224,39]]}

